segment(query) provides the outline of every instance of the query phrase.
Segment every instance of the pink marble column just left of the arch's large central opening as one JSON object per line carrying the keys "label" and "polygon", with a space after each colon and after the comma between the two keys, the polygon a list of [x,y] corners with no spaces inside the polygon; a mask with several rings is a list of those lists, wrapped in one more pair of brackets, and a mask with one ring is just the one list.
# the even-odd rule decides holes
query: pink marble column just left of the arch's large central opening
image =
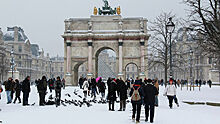
{"label": "pink marble column just left of the arch's large central opening", "polygon": [[92,39],[88,40],[88,75],[92,75]]}

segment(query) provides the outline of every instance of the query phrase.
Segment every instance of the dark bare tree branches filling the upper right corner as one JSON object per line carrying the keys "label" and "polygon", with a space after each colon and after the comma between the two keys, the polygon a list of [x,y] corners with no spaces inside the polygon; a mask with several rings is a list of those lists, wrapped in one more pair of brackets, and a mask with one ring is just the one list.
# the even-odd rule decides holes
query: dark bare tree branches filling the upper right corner
{"label": "dark bare tree branches filling the upper right corner", "polygon": [[190,7],[190,28],[199,32],[199,45],[220,57],[220,0],[184,0]]}

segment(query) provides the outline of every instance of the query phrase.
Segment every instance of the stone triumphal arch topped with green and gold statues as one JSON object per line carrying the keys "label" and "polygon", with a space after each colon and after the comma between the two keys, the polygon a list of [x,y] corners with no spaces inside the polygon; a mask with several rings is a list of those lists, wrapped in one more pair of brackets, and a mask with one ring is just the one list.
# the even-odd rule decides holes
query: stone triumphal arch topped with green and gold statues
{"label": "stone triumphal arch topped with green and gold statues", "polygon": [[62,37],[67,85],[78,84],[78,68],[83,63],[87,65],[87,76],[97,77],[98,55],[105,49],[116,53],[118,77],[125,78],[126,66],[131,63],[137,65],[141,78],[148,76],[149,35],[145,18],[123,18],[120,7],[112,9],[105,2],[102,9],[94,8],[90,18],[66,19]]}

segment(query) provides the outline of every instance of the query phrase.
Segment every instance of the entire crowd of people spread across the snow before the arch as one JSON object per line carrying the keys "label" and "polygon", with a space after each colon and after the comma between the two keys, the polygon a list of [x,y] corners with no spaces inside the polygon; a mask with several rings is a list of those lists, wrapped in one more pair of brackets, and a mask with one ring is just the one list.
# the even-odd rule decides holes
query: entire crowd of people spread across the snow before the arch
{"label": "entire crowd of people spread across the snow before the arch", "polygon": [[[167,97],[170,109],[173,108],[173,101],[179,107],[178,99],[176,96],[176,88],[184,84],[184,80],[173,80],[170,78],[168,85],[166,85],[164,96]],[[207,82],[209,85],[212,82],[209,80]],[[101,95],[100,101],[102,103],[108,103],[108,110],[115,111],[115,103],[119,103],[120,107],[118,111],[125,111],[128,96],[130,96],[132,104],[132,120],[137,123],[140,122],[140,114],[142,106],[145,109],[145,121],[154,122],[154,112],[155,107],[159,106],[158,94],[159,85],[164,85],[163,80],[151,80],[151,79],[139,79],[138,77],[134,79],[127,79],[124,81],[121,78],[108,78],[106,82],[103,81],[101,77],[98,78],[79,78],[79,87],[82,89],[84,98],[83,101],[88,99],[90,96],[93,100],[97,99],[97,95]],[[198,86],[202,85],[201,80],[196,80],[195,84]],[[3,83],[5,86],[5,92],[7,95],[7,104],[23,103],[23,106],[28,106],[29,94],[31,92],[30,76],[27,76],[25,80],[19,81],[18,79],[13,80],[11,77]],[[47,80],[46,76],[41,79],[35,80],[35,85],[39,94],[39,105],[46,105],[45,96],[55,90],[55,104],[60,105],[61,102],[61,90],[65,89],[65,79],[57,77],[56,79]],[[211,86],[210,86],[211,87]],[[107,93],[106,93],[107,91]],[[0,84],[0,99],[1,92],[3,92],[2,85]],[[21,92],[23,93],[23,101],[21,101]],[[15,94],[15,97],[14,97]],[[119,100],[117,100],[119,99]]]}

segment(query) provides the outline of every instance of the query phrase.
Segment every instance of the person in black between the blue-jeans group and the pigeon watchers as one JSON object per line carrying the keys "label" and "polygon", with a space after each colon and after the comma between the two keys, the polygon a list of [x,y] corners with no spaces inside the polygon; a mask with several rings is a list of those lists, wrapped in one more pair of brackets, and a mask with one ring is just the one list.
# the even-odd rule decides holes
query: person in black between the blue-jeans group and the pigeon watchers
{"label": "person in black between the blue-jeans group and the pigeon watchers", "polygon": [[31,92],[31,85],[30,85],[30,76],[27,76],[25,80],[22,82],[22,92],[23,92],[23,106],[27,106],[29,93]]}

